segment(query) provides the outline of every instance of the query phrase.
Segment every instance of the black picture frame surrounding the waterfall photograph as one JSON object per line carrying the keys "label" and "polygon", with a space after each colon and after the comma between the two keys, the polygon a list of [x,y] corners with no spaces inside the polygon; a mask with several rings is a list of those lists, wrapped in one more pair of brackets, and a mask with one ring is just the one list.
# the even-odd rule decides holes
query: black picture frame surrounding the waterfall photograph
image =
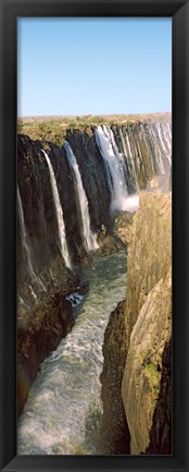
{"label": "black picture frame surrounding the waterfall photograph", "polygon": [[[173,456],[16,456],[16,19],[171,16],[173,22]],[[1,0],[0,470],[189,470],[189,0]],[[187,33],[188,29],[188,33]]]}

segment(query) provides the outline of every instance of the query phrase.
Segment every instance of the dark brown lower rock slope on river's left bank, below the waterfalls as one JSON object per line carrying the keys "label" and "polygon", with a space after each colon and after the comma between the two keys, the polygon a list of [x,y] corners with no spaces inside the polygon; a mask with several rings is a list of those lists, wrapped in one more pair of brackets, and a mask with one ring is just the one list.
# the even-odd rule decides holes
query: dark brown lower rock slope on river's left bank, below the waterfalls
{"label": "dark brown lower rock slope on river's left bank, below the waterfalls", "polygon": [[[66,278],[61,292],[43,296],[36,306],[21,305],[17,320],[17,414],[27,400],[39,364],[53,351],[74,324],[66,293],[78,289],[76,277]],[[51,292],[52,293],[52,292]],[[24,311],[25,308],[25,311]]]}

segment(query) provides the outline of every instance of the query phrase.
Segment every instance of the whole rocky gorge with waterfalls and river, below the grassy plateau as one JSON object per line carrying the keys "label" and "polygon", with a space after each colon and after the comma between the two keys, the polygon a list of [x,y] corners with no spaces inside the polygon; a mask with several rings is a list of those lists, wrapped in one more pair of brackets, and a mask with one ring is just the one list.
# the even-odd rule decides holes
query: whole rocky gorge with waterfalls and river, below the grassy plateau
{"label": "whole rocky gorge with waterfalls and river, below the grassy plateau", "polygon": [[[17,135],[18,453],[171,453],[171,420],[161,413],[161,445],[159,412],[152,421],[163,374],[171,409],[171,116],[28,134]],[[141,408],[143,383],[153,401],[137,429],[130,395]]]}

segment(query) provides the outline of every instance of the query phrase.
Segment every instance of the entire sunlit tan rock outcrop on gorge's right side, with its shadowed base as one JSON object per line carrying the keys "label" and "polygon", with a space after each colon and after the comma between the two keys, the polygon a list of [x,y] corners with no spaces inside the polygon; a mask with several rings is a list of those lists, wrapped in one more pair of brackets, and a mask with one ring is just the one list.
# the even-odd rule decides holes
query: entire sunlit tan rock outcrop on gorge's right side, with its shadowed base
{"label": "entire sunlit tan rock outcrop on gorge's right side, with its shadowed base", "polygon": [[[125,230],[122,225],[117,233],[128,244],[125,335],[122,350],[121,339],[117,339],[117,311],[114,323],[110,319],[108,325],[109,339],[106,334],[104,338],[101,377],[104,411],[113,410],[116,417],[117,408],[121,411],[121,404],[124,404],[124,417],[130,434],[130,453],[172,453],[171,194],[142,193],[139,211],[133,221],[128,221]],[[123,372],[119,402],[112,388],[112,376],[115,376],[118,360],[117,350],[114,348],[111,352],[111,346],[116,342],[119,344]],[[109,396],[105,397],[106,390]],[[104,415],[102,431],[115,427],[111,416]],[[115,438],[117,434],[116,429],[112,433]],[[127,429],[121,443],[124,440],[126,447]],[[117,453],[116,441],[112,444],[111,450]],[[105,452],[109,453],[108,441],[104,444]]]}

